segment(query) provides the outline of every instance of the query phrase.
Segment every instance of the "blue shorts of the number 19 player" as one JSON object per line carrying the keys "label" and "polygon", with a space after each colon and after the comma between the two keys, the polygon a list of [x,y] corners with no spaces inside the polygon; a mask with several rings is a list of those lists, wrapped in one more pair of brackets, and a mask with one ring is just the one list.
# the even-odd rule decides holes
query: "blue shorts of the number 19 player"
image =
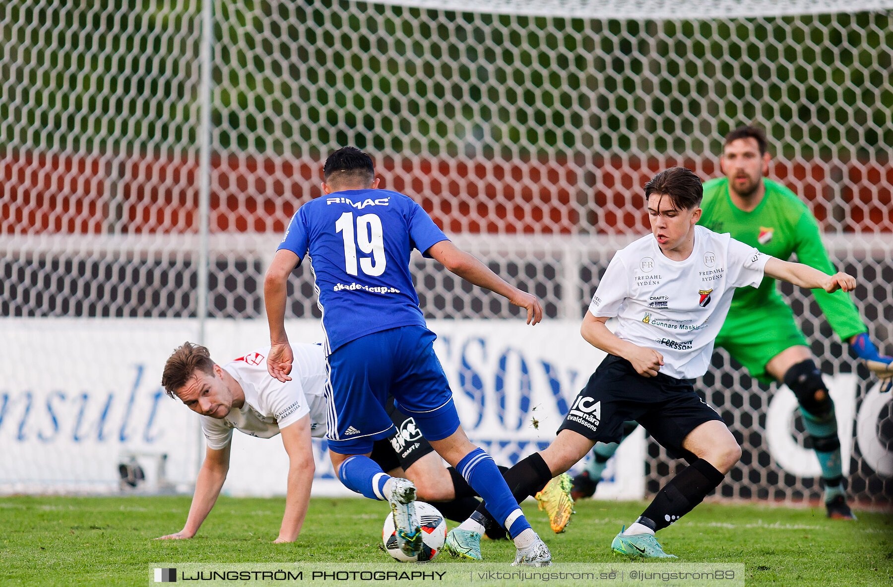
{"label": "blue shorts of the number 19 player", "polygon": [[330,450],[364,455],[375,440],[396,432],[385,407],[388,394],[426,439],[445,439],[458,429],[453,392],[434,354],[436,338],[427,328],[401,326],[351,340],[328,357]]}

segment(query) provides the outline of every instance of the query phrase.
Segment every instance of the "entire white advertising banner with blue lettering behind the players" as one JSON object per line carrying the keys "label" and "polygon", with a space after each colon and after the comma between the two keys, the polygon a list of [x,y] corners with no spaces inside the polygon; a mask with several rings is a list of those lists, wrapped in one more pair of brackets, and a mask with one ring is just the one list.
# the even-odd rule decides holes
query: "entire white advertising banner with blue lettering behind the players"
{"label": "entire white advertising banner with blue lettering behind the players", "polygon": [[[171,350],[195,340],[195,321],[5,319],[0,328],[0,493],[120,491],[119,467],[132,463],[146,475],[135,491],[188,491],[204,452],[197,417],[160,381]],[[268,340],[264,321],[213,320],[205,328],[219,363]],[[430,328],[466,432],[499,465],[555,438],[604,356],[580,338],[579,323],[433,321]],[[316,320],[291,321],[288,331],[294,341],[321,340]],[[645,440],[640,431],[630,440],[597,497],[643,496]],[[314,449],[314,494],[350,494],[332,475],[324,443],[314,440]],[[281,495],[287,470],[278,438],[236,433],[224,491]]]}

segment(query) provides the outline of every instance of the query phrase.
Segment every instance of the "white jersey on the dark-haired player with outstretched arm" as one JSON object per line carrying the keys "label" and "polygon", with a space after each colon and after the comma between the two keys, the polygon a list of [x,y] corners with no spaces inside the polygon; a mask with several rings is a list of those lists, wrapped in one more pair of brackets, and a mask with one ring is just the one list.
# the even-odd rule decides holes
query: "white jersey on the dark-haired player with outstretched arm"
{"label": "white jersey on the dark-haired player with outstretched arm", "polygon": [[770,258],[728,233],[696,226],[691,255],[673,261],[648,234],[614,254],[589,312],[617,316],[614,334],[661,353],[661,373],[695,379],[710,364],[735,288],[759,286]]}

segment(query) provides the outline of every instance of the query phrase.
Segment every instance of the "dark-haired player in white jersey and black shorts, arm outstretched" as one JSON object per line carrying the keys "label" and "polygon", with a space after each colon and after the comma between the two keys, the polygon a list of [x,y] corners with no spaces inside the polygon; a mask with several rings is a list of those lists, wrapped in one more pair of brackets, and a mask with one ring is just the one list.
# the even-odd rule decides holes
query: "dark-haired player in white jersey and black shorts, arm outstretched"
{"label": "dark-haired player in white jersey and black shorts, arm outstretched", "polygon": [[[620,440],[624,423],[634,420],[689,466],[617,534],[611,548],[633,557],[673,558],[655,532],[714,491],[741,455],[720,415],[692,385],[709,365],[735,289],[759,285],[764,274],[826,291],[854,289],[855,279],[781,261],[696,226],[702,187],[687,169],[658,173],[645,195],[652,234],[613,256],[580,327],[583,338],[608,356],[572,403],[555,441],[514,465],[505,480],[513,491],[530,491],[547,476],[563,474],[597,441]],[[605,326],[613,317],[614,332]],[[472,525],[479,514],[463,526],[480,532]]]}

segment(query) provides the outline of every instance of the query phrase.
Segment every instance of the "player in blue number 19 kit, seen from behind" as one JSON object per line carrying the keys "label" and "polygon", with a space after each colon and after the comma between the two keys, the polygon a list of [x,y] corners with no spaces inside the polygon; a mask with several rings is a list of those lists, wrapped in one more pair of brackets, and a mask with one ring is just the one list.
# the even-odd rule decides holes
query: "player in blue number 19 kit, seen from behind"
{"label": "player in blue number 19 kit, seen from behind", "polygon": [[542,306],[456,248],[410,197],[378,189],[371,157],[359,149],[344,147],[330,155],[323,177],[323,196],[302,205],[292,217],[264,281],[271,375],[283,382],[289,379],[286,284],[289,273],[309,256],[326,334],[326,438],[341,482],[368,498],[388,499],[400,548],[408,556],[421,550],[412,482],[388,476],[369,458],[373,441],[394,432],[385,408],[388,394],[393,395],[396,407],[415,418],[431,446],[505,526],[518,549],[513,564],[550,565],[546,544],[530,528],[496,463],[459,425],[452,392],[434,354],[436,336],[425,325],[413,288],[410,253],[416,248],[452,273],[526,308],[527,323],[539,322]]}

